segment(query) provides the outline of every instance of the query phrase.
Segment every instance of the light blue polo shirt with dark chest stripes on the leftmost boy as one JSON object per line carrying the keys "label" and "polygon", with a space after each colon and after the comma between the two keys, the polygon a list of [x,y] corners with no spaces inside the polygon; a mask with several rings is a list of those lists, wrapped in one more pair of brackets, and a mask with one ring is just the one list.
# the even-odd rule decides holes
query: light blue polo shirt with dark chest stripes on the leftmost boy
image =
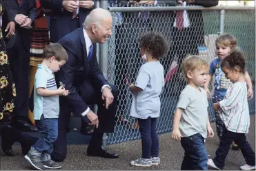
{"label": "light blue polo shirt with dark chest stripes on the leftmost boy", "polygon": [[43,97],[37,94],[38,88],[57,90],[55,75],[52,73],[52,70],[42,64],[37,65],[37,72],[35,75],[34,119],[40,120],[42,114],[44,118],[58,118],[59,95]]}

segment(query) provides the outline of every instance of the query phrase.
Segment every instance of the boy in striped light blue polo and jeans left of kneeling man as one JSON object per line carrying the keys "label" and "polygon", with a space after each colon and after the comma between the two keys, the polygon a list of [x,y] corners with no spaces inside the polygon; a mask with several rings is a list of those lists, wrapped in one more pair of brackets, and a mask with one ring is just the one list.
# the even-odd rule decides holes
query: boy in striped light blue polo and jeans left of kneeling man
{"label": "boy in striped light blue polo and jeans left of kneeling man", "polygon": [[25,159],[37,170],[61,168],[50,154],[58,136],[59,95],[68,95],[64,85],[57,89],[54,73],[68,60],[66,50],[58,43],[43,49],[43,62],[38,65],[34,87],[34,119],[41,133]]}

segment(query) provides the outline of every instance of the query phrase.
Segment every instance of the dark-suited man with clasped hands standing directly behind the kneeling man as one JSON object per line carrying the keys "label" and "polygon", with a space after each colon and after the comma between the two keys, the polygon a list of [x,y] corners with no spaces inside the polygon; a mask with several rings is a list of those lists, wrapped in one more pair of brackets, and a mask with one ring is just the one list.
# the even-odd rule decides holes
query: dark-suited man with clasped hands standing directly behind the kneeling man
{"label": "dark-suited man with clasped hands standing directly behind the kneeling man", "polygon": [[96,7],[96,0],[41,0],[41,4],[43,8],[52,10],[50,15],[50,42],[56,43],[66,34],[82,26],[86,16]]}

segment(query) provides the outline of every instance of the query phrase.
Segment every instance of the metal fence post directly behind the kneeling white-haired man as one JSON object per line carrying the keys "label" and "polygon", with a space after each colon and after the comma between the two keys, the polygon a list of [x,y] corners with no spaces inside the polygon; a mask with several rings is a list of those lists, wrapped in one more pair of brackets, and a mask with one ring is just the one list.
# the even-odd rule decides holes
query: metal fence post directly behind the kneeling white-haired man
{"label": "metal fence post directly behind the kneeling white-haired man", "polygon": [[[108,9],[108,1],[100,1],[101,8]],[[101,71],[104,74],[104,77],[108,77],[108,42],[99,45],[99,62],[101,66]],[[108,80],[108,79],[107,79]],[[101,124],[101,123],[99,123]],[[108,142],[108,135],[104,133],[102,139],[102,148],[106,148]]]}

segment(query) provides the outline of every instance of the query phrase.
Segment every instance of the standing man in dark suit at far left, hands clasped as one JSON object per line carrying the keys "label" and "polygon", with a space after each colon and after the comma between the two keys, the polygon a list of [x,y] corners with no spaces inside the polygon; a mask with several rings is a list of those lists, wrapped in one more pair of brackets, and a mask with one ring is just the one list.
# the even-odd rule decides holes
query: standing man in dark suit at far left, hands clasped
{"label": "standing man in dark suit at far left, hands clasped", "polygon": [[[17,89],[14,113],[18,117],[28,118],[29,69],[30,69],[30,34],[37,16],[35,0],[4,1],[8,15],[3,15],[3,26],[6,28],[10,15],[16,23],[16,32],[6,38],[6,48],[10,60],[10,69]],[[9,16],[9,17],[8,17]],[[3,32],[6,33],[6,32]]]}

